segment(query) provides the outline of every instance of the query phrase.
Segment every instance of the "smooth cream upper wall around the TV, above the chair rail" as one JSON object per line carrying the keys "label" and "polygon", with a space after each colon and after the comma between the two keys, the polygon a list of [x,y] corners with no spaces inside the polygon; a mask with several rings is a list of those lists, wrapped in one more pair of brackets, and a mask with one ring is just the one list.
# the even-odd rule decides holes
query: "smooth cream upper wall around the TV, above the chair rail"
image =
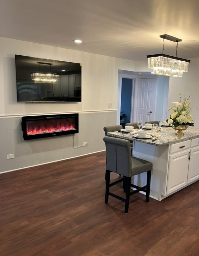
{"label": "smooth cream upper wall around the TV, above the chair rail", "polygon": [[[112,102],[112,109],[116,109],[118,68],[121,65],[131,69],[134,67],[134,62],[97,54],[7,38],[0,38],[0,42],[0,84],[4,90],[0,114],[99,110],[107,109],[108,102]],[[82,103],[16,103],[15,54],[82,63]]]}

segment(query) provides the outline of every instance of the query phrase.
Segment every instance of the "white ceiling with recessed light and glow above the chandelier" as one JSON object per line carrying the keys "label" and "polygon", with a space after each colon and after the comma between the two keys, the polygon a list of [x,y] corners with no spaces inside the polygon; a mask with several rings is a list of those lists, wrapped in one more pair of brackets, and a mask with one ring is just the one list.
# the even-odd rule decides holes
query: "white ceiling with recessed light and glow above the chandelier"
{"label": "white ceiling with recessed light and glow above the chandelier", "polygon": [[[1,0],[0,36],[130,60],[199,57],[198,0]],[[81,39],[82,44],[72,40]],[[164,54],[176,43],[165,40]]]}

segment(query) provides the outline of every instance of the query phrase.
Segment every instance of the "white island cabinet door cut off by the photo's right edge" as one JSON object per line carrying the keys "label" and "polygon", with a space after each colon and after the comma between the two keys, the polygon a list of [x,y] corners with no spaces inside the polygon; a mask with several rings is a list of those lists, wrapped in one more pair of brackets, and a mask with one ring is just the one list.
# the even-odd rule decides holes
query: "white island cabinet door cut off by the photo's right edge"
{"label": "white island cabinet door cut off by the photo's right edge", "polygon": [[191,149],[187,184],[197,179],[199,179],[199,147]]}

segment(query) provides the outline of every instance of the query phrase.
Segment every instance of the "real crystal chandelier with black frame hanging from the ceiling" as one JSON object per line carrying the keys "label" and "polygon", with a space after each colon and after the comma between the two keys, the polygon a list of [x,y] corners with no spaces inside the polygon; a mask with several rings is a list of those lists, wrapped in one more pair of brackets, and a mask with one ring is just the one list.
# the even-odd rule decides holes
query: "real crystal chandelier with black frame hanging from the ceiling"
{"label": "real crystal chandelier with black frame hanging from the ceiling", "polygon": [[[153,73],[156,75],[170,76],[170,77],[182,77],[183,72],[188,71],[188,65],[190,60],[177,57],[178,42],[182,39],[170,36],[160,35],[163,38],[162,54],[147,55],[148,67],[153,68]],[[164,39],[176,42],[176,56],[170,56],[164,53]]]}

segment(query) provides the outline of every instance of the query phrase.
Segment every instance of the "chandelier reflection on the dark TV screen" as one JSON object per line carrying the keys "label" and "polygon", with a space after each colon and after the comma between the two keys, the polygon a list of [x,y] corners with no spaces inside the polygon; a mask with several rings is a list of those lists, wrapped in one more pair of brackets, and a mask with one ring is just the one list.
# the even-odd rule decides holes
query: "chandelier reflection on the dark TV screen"
{"label": "chandelier reflection on the dark TV screen", "polygon": [[59,75],[53,74],[51,72],[51,65],[52,63],[45,63],[45,62],[37,62],[38,64],[45,64],[50,65],[50,72],[49,73],[40,73],[40,66],[39,66],[39,72],[38,73],[31,73],[31,79],[35,81],[35,83],[52,83],[55,84],[58,79]]}

